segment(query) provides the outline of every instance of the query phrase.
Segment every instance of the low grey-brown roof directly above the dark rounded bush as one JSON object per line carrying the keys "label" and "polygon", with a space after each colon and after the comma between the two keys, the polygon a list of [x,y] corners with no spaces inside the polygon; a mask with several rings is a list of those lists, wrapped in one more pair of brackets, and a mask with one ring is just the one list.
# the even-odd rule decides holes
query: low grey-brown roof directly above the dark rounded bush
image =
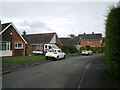
{"label": "low grey-brown roof directly above the dark rounded bush", "polygon": [[78,45],[79,44],[79,37],[71,38],[60,38],[60,41],[63,45]]}

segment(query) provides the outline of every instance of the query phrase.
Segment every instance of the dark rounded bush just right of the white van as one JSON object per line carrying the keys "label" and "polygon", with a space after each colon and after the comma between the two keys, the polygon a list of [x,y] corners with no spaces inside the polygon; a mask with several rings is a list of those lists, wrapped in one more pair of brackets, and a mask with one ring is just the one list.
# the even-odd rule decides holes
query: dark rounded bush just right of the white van
{"label": "dark rounded bush just right of the white van", "polygon": [[63,45],[62,46],[62,50],[65,53],[77,53],[78,52],[78,50],[76,49],[76,47],[73,46],[73,45]]}

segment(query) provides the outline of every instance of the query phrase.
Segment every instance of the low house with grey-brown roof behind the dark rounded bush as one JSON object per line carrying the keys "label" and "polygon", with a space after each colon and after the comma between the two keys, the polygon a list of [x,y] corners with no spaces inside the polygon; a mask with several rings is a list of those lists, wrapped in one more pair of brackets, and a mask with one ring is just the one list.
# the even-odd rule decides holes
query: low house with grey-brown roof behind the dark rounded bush
{"label": "low house with grey-brown roof behind the dark rounded bush", "polygon": [[73,34],[71,34],[69,36],[70,37],[60,38],[62,45],[73,45],[79,50],[79,48],[80,48],[79,37],[76,37]]}

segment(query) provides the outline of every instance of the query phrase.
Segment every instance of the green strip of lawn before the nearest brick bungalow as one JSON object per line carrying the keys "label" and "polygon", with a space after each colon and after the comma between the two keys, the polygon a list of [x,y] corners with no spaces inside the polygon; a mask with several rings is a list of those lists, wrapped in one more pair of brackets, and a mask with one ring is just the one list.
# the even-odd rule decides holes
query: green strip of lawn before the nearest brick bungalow
{"label": "green strip of lawn before the nearest brick bungalow", "polygon": [[21,56],[21,57],[9,57],[9,58],[3,58],[2,62],[10,62],[10,63],[24,63],[29,61],[35,61],[35,60],[43,60],[44,56]]}

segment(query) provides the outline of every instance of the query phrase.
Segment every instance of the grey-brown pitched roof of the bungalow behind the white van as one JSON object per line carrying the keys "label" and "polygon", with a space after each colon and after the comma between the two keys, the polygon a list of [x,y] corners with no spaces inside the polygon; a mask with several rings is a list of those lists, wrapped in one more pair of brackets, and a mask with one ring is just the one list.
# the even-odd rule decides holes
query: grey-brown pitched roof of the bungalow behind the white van
{"label": "grey-brown pitched roof of the bungalow behind the white van", "polygon": [[30,43],[30,44],[36,44],[36,43],[49,43],[53,36],[56,33],[44,33],[44,34],[28,34],[28,35],[22,35],[24,39]]}

